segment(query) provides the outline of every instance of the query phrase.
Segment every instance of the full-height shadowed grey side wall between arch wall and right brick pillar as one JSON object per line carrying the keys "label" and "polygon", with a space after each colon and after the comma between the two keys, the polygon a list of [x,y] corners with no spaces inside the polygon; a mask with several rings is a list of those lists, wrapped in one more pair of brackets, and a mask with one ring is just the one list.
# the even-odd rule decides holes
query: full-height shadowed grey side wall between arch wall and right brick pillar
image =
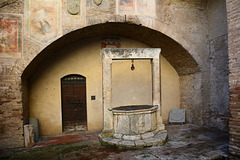
{"label": "full-height shadowed grey side wall between arch wall and right brick pillar", "polygon": [[208,1],[211,105],[209,126],[228,131],[229,70],[226,2]]}

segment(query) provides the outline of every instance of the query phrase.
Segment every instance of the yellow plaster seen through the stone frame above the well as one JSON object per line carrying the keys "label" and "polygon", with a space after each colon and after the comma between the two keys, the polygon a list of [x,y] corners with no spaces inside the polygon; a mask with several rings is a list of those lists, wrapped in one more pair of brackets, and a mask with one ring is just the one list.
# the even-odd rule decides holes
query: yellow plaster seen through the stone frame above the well
{"label": "yellow plaster seen through the stone frame above the well", "polygon": [[[140,46],[140,48],[142,47]],[[133,65],[135,69],[132,71],[131,60],[113,60],[112,107],[152,105],[152,69],[150,60],[134,60]]]}

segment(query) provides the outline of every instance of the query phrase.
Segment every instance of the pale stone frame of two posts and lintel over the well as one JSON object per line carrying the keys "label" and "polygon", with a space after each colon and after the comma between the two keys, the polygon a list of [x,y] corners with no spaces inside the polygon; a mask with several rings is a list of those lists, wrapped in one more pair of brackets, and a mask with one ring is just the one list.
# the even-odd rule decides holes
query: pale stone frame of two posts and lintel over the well
{"label": "pale stone frame of two posts and lintel over the well", "polygon": [[152,62],[152,105],[157,105],[157,128],[165,129],[160,101],[160,48],[104,48],[102,52],[103,136],[113,134],[112,62],[113,60],[150,59]]}

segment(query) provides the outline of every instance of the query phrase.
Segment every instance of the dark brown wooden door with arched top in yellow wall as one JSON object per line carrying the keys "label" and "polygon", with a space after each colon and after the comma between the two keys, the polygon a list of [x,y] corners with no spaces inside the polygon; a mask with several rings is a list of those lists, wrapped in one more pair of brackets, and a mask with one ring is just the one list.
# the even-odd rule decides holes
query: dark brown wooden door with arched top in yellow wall
{"label": "dark brown wooden door with arched top in yellow wall", "polygon": [[86,78],[69,75],[61,79],[63,131],[86,130]]}

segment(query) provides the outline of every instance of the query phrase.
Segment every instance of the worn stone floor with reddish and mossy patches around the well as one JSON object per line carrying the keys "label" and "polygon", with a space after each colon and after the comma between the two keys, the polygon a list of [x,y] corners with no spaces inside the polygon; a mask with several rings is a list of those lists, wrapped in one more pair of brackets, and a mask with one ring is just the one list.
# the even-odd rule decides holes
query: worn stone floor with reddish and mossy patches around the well
{"label": "worn stone floor with reddish and mossy patches around the well", "polygon": [[0,159],[34,160],[207,160],[227,159],[228,133],[195,125],[166,125],[168,142],[164,146],[139,150],[103,147],[100,132],[75,132],[41,137],[35,147],[0,150]]}

